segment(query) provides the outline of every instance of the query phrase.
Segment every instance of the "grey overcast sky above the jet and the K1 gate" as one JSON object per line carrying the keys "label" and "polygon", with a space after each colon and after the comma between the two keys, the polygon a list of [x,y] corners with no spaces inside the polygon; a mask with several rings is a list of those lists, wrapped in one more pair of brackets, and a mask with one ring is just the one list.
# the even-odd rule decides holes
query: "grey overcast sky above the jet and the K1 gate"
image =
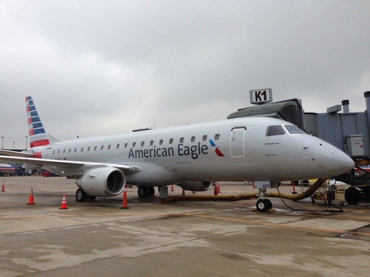
{"label": "grey overcast sky above the jet and the K1 gate", "polygon": [[28,95],[59,140],[225,119],[254,89],[363,112],[369,12],[369,0],[0,0],[4,148],[26,146]]}

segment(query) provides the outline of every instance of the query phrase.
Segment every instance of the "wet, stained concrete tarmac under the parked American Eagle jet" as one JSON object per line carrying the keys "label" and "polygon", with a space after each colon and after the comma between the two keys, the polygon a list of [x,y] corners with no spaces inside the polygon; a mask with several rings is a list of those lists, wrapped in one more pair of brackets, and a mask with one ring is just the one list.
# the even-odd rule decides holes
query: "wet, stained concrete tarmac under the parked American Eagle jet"
{"label": "wet, stained concrete tarmac under the parked American Eagle jet", "polygon": [[[2,180],[1,277],[370,276],[369,205],[319,212],[335,208],[285,201],[310,210],[297,211],[270,198],[275,212],[258,212],[253,199],[162,203],[157,189],[141,199],[133,187],[120,209],[122,194],[76,202],[75,180],[63,177]],[[221,184],[221,194],[256,191]],[[26,205],[31,188],[35,204]],[[174,189],[169,195],[182,193]],[[64,194],[68,209],[59,209]]]}

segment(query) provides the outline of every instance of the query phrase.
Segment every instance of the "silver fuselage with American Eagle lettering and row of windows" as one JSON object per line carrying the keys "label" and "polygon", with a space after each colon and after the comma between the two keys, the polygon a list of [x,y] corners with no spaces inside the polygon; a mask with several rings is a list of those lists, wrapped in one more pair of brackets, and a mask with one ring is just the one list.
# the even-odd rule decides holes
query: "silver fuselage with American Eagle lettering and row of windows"
{"label": "silver fuselage with American Eagle lettering and row of windows", "polygon": [[[267,127],[278,125],[284,134],[267,136]],[[293,126],[276,118],[243,117],[62,141],[27,152],[41,152],[43,159],[136,165],[143,170],[127,175],[127,183],[147,186],[306,180],[353,168],[353,161],[338,148],[308,134],[291,134],[285,125]],[[60,166],[43,167],[67,177],[83,174]]]}

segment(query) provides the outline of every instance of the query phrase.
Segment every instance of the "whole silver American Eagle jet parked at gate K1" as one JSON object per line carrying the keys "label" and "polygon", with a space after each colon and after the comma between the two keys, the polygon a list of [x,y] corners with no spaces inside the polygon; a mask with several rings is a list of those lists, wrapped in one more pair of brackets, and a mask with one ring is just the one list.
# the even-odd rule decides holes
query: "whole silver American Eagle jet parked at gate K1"
{"label": "whole silver American Eagle jet parked at gate K1", "polygon": [[[141,198],[168,196],[167,185],[206,191],[213,181],[309,180],[350,171],[353,160],[290,122],[239,117],[95,138],[55,141],[26,97],[29,149],[0,150],[0,160],[22,162],[76,179],[76,200],[120,194],[136,185]],[[263,191],[261,191],[263,192]],[[260,193],[259,210],[271,208]]]}

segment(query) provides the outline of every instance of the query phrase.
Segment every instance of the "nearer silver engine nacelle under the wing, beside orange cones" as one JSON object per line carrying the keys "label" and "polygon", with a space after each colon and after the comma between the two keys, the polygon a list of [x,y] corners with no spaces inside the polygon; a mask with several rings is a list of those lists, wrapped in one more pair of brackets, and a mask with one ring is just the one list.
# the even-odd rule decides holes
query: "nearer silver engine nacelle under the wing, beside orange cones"
{"label": "nearer silver engine nacelle under the wing, beside orange cones", "polygon": [[85,173],[76,184],[89,195],[112,197],[123,191],[126,176],[117,168],[99,167]]}

